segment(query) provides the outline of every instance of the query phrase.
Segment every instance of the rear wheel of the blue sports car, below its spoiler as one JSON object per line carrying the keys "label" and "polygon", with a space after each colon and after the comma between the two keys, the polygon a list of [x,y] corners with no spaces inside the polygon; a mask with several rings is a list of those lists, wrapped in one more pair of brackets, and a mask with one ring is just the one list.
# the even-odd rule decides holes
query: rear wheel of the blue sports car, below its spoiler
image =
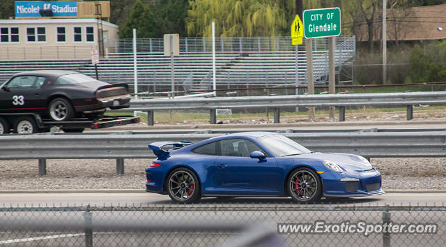
{"label": "rear wheel of the blue sports car, below its spoiler", "polygon": [[200,200],[200,184],[194,172],[177,168],[167,177],[167,193],[174,202],[189,204]]}

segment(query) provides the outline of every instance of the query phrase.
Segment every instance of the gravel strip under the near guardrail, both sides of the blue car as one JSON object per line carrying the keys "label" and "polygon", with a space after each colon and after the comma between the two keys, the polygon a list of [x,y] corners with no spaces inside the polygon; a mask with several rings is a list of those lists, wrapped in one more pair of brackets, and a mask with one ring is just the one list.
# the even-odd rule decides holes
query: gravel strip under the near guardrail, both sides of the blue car
{"label": "gravel strip under the near guardrail, both sides of the blue car", "polygon": [[[38,160],[0,160],[0,190],[141,189],[150,159],[125,159],[125,175],[116,160],[47,160],[38,176]],[[383,189],[446,189],[446,158],[372,158],[383,174]]]}

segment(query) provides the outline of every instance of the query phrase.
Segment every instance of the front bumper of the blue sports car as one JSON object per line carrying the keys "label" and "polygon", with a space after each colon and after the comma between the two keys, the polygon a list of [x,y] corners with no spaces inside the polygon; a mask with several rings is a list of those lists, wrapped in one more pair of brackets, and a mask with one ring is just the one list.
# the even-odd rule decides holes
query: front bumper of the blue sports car
{"label": "front bumper of the blue sports car", "polygon": [[325,172],[321,174],[321,179],[325,197],[358,197],[384,193],[381,174],[375,169],[347,173]]}

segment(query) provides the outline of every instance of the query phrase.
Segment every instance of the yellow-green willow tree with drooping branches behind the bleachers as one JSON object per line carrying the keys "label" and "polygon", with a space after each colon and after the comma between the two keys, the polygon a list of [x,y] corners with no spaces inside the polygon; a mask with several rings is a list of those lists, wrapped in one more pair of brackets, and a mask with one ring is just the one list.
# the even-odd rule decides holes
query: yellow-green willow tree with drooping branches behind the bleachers
{"label": "yellow-green willow tree with drooping branches behind the bleachers", "polygon": [[[294,0],[190,0],[189,36],[280,36],[289,29]],[[287,16],[288,15],[288,16]],[[290,21],[291,20],[291,21]]]}

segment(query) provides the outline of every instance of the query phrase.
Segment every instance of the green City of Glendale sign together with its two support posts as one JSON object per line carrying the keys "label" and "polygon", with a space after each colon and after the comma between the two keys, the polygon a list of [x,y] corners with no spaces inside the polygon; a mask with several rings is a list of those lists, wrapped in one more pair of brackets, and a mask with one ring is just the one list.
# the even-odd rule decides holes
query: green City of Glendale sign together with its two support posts
{"label": "green City of Glendale sign together with its two support posts", "polygon": [[[304,36],[307,38],[307,69],[313,68],[313,59],[309,53],[312,52],[312,38],[328,38],[328,59],[329,59],[329,74],[328,74],[328,93],[335,93],[334,80],[334,46],[335,37],[341,34],[341,9],[340,8],[319,8],[314,10],[304,10]],[[307,75],[313,73],[307,72]],[[313,77],[308,77],[308,93],[314,92]],[[311,82],[310,82],[311,80]],[[312,87],[310,89],[310,87]],[[310,107],[312,108],[312,107]],[[314,119],[314,109],[309,113],[310,118]],[[334,120],[334,107],[330,107],[330,120]]]}

